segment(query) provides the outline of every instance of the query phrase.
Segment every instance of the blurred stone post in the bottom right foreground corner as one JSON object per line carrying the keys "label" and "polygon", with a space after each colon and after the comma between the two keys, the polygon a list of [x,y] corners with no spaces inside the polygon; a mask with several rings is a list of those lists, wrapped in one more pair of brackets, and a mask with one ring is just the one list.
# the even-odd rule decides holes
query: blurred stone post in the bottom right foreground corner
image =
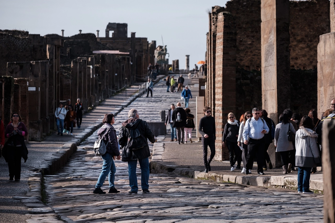
{"label": "blurred stone post in the bottom right foreground corner", "polygon": [[324,185],[324,222],[335,222],[335,121],[330,121],[322,130],[322,168]]}

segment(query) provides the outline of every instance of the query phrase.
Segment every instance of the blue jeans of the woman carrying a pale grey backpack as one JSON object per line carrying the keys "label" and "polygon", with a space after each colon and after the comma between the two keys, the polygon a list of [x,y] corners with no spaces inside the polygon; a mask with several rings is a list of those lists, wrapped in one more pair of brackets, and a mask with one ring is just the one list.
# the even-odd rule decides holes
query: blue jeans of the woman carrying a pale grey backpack
{"label": "blue jeans of the woman carrying a pale grey backpack", "polygon": [[105,153],[104,155],[101,156],[101,158],[104,160],[104,163],[103,163],[103,168],[101,170],[98,181],[95,184],[95,188],[102,187],[107,175],[108,175],[109,188],[115,188],[114,178],[115,178],[116,168],[115,168],[113,156],[109,153]]}

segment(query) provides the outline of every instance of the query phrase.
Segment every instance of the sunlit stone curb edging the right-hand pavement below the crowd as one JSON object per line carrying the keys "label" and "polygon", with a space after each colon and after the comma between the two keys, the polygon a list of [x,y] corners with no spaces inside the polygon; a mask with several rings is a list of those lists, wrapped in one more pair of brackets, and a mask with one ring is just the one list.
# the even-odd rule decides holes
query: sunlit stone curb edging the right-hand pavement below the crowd
{"label": "sunlit stone curb edging the right-hand pavement below the crowd", "polygon": [[[276,176],[258,176],[258,175],[228,175],[217,173],[205,173],[196,169],[181,168],[179,166],[165,165],[163,163],[164,142],[155,143],[152,148],[152,159],[150,162],[150,173],[174,173],[184,175],[195,179],[209,179],[216,182],[229,182],[244,185],[252,185],[266,188],[285,188],[297,190],[296,175],[276,175]],[[321,176],[320,176],[321,175]],[[310,179],[310,189],[316,193],[323,193],[322,174],[314,174]]]}

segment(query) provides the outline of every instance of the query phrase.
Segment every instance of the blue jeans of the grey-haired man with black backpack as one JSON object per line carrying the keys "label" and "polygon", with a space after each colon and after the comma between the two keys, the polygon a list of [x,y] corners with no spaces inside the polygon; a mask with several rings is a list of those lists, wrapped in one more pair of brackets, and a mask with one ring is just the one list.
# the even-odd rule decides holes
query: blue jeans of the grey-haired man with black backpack
{"label": "blue jeans of the grey-haired man with black backpack", "polygon": [[[138,162],[140,164],[141,168],[141,188],[143,189],[149,189],[149,158],[143,158],[138,159]],[[128,174],[129,174],[129,186],[131,188],[131,191],[138,191],[137,186],[137,176],[136,176],[136,165],[137,165],[137,159],[136,160],[130,160],[128,161]]]}

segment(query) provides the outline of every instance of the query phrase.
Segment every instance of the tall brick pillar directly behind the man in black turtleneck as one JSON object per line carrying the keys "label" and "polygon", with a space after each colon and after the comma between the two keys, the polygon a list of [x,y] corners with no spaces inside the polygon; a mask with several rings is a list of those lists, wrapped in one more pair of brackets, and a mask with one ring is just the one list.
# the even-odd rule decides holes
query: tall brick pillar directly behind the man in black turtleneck
{"label": "tall brick pillar directly behind the man in black turtleneck", "polygon": [[228,113],[236,113],[236,24],[231,14],[218,14],[216,33],[215,159],[228,160],[228,149],[222,147],[221,140]]}

